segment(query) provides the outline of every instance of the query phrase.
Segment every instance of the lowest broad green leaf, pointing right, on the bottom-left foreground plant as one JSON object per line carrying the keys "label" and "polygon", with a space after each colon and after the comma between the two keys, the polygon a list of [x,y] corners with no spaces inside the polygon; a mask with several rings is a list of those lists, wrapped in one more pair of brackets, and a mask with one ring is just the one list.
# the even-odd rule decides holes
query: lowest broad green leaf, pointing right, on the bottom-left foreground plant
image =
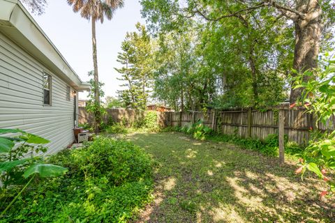
{"label": "lowest broad green leaf, pointing right, on the bottom-left foreground plant", "polygon": [[32,174],[39,174],[40,177],[54,177],[61,176],[65,174],[68,169],[64,167],[59,167],[53,164],[32,164],[31,167],[28,167],[26,171],[24,171],[24,178],[29,178]]}

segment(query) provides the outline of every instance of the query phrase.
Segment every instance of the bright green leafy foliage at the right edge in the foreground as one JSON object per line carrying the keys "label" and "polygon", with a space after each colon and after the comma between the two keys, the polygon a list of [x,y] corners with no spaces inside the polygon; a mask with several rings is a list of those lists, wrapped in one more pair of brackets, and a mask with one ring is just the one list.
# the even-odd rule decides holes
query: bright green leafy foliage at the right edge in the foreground
{"label": "bright green leafy foliage at the right edge in the foreground", "polygon": [[[327,57],[327,54],[325,56],[326,58],[323,59],[325,66],[319,70],[308,70],[298,75],[295,79],[295,87],[304,89],[301,101],[305,103],[308,112],[318,114],[316,121],[321,121],[325,126],[334,127],[333,125],[329,126],[327,121],[335,114],[335,57]],[[312,75],[317,78],[306,78],[306,76],[311,77]],[[325,132],[321,137],[313,139],[306,151],[301,154],[301,164],[297,169],[299,174],[304,174],[308,169],[327,182],[328,190],[322,192],[322,196],[327,193],[335,193],[335,180],[327,177],[327,173],[334,174],[335,172],[334,145],[335,131]]]}

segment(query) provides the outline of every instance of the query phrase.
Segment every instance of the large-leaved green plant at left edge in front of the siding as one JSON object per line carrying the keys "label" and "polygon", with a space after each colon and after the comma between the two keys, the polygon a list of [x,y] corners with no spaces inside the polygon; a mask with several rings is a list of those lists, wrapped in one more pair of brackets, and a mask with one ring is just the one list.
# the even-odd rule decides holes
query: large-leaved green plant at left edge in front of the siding
{"label": "large-leaved green plant at left edge in front of the siding", "polygon": [[[15,134],[5,137],[3,134]],[[50,141],[30,134],[22,130],[0,129],[0,171],[1,171],[1,197],[3,204],[8,199],[6,208],[2,210],[3,216],[10,206],[20,197],[22,192],[26,190],[28,185],[38,175],[41,178],[49,178],[61,176],[67,169],[53,164],[44,164],[41,157],[33,157],[34,153],[45,153],[47,148],[42,144]],[[31,157],[27,157],[27,153],[31,153]],[[30,180],[26,180],[29,179]],[[22,187],[22,184],[24,186]],[[18,194],[9,194],[8,188],[15,188]],[[19,192],[20,191],[20,192]],[[7,196],[6,196],[7,195]],[[11,197],[10,195],[13,195]]]}

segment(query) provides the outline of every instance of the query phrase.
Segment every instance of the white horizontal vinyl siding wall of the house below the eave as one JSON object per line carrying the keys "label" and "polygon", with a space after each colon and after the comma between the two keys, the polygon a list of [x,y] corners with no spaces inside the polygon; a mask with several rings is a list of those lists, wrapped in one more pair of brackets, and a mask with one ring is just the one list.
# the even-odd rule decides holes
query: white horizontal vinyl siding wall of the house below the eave
{"label": "white horizontal vinyl siding wall of the house below the eave", "polygon": [[[43,72],[51,75],[52,105],[43,105]],[[0,33],[0,128],[20,128],[51,142],[48,153],[73,143],[74,101],[68,84]],[[70,88],[70,92],[73,89]]]}

